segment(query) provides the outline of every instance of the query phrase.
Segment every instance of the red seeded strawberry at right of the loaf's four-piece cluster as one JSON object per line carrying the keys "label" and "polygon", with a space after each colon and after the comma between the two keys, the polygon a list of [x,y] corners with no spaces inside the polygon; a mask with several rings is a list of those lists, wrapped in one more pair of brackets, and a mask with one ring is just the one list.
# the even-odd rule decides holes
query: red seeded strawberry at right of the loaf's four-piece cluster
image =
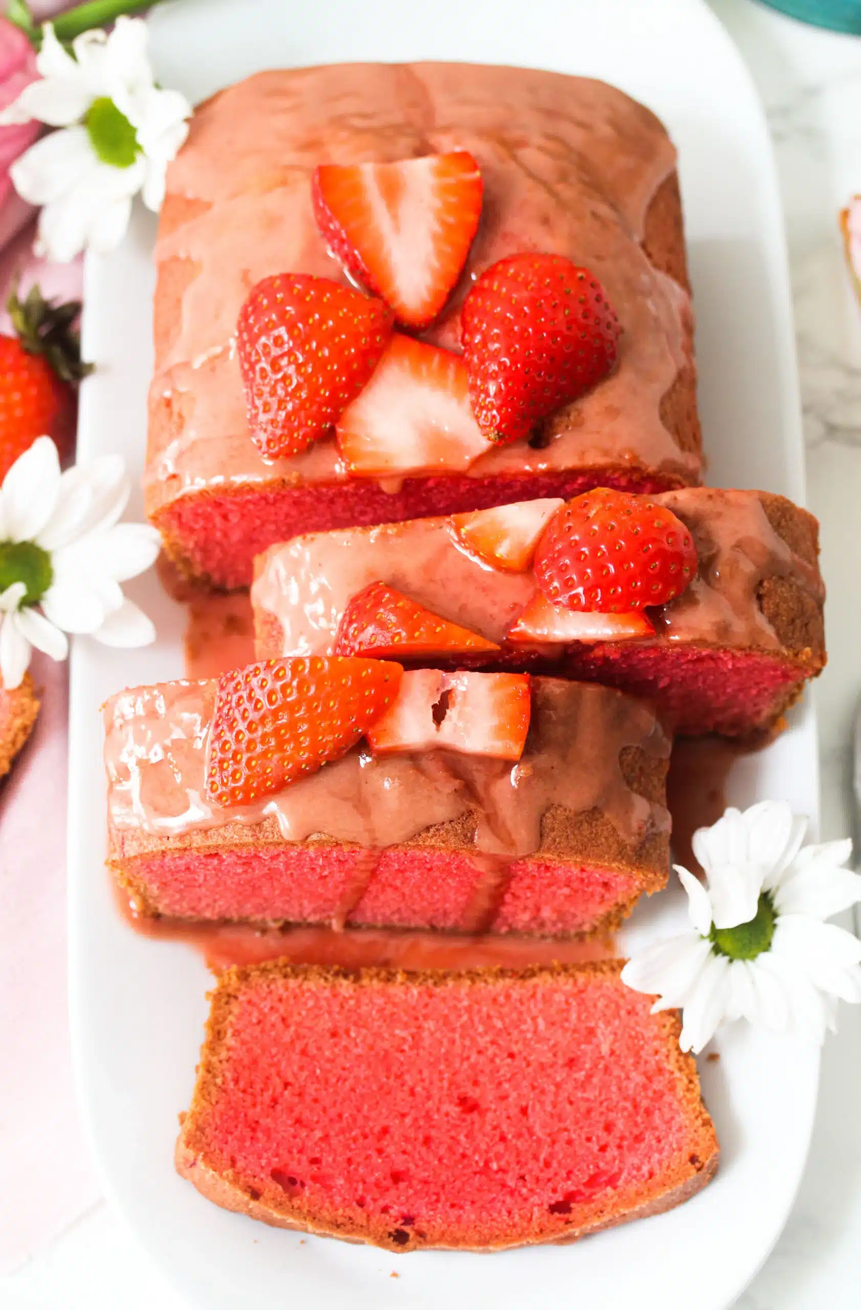
{"label": "red seeded strawberry at right of the loaf's four-piece cluster", "polygon": [[616,362],[620,326],[588,269],[515,254],[482,272],[461,310],[469,400],[493,441],[528,438]]}

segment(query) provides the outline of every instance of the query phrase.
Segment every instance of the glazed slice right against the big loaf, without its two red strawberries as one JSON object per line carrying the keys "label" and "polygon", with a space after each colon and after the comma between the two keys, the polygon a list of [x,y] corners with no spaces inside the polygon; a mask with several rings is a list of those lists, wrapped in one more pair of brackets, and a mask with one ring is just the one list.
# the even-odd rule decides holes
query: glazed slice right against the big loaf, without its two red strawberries
{"label": "glazed slice right against the big loaf, without its two red strawberries", "polygon": [[[609,684],[651,701],[680,734],[773,730],[826,662],[816,520],[767,491],[685,487],[651,499],[688,529],[698,557],[664,605],[584,614],[550,604],[532,567],[562,504],[549,499],[270,548],[252,587],[258,655],[333,651],[355,597],[385,586],[498,646],[459,654],[461,667]],[[409,643],[396,650],[421,663]],[[444,651],[434,660],[444,664]]]}

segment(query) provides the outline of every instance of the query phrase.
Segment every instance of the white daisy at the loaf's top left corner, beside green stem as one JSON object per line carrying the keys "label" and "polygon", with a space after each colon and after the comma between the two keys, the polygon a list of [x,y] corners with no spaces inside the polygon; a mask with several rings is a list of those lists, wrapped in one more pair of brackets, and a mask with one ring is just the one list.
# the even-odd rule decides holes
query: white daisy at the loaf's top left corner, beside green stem
{"label": "white daisy at the loaf's top left corner, beside green stem", "polygon": [[143,18],[118,18],[110,35],[83,33],[73,58],[50,22],[42,31],[41,79],[0,114],[0,126],[35,118],[62,128],[25,151],[9,176],[25,200],[42,206],[37,253],[66,262],[85,246],[118,245],[138,191],[148,208],[161,207],[191,106],[155,85]]}

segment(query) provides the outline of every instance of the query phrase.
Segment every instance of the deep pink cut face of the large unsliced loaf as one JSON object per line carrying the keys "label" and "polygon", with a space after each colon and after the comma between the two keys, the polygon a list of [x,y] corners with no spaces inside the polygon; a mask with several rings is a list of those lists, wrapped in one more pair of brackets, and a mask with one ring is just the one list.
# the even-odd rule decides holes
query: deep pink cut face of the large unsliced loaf
{"label": "deep pink cut face of the large unsliced loaf", "polygon": [[254,555],[297,532],[354,524],[400,523],[426,515],[489,510],[541,496],[570,498],[600,483],[622,491],[655,493],[660,478],[640,479],[617,469],[581,469],[507,478],[406,478],[397,491],[371,479],[318,482],[273,490],[266,483],[240,493],[214,490],[180,496],[159,514],[172,549],[195,576],[218,587],[248,587]]}

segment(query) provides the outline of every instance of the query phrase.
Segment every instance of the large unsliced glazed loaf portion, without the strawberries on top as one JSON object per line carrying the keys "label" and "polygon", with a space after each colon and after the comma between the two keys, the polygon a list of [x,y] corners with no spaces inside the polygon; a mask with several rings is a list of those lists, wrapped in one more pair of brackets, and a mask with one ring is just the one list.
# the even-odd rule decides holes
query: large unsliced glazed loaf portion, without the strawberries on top
{"label": "large unsliced glazed loaf portion, without the strawberries on top", "polygon": [[[473,448],[464,436],[457,449],[408,457],[405,436],[397,466],[380,465],[363,407],[346,452],[329,435],[265,457],[249,431],[237,320],[270,276],[347,286],[315,216],[317,170],[451,152],[474,157],[484,211],[464,275],[422,341],[455,352],[457,372],[465,291],[501,258],[541,252],[584,266],[605,288],[622,329],[616,367],[511,445]],[[250,582],[254,554],[296,533],[570,496],[598,483],[657,491],[698,482],[675,169],[666,130],[642,105],[603,83],[536,69],[294,68],[206,101],[168,169],[156,249],[145,503],[168,554],[193,576],[239,587]],[[410,338],[398,342],[406,348]],[[426,398],[404,371],[385,409],[404,426]],[[440,406],[450,430],[456,401],[447,394]]]}

